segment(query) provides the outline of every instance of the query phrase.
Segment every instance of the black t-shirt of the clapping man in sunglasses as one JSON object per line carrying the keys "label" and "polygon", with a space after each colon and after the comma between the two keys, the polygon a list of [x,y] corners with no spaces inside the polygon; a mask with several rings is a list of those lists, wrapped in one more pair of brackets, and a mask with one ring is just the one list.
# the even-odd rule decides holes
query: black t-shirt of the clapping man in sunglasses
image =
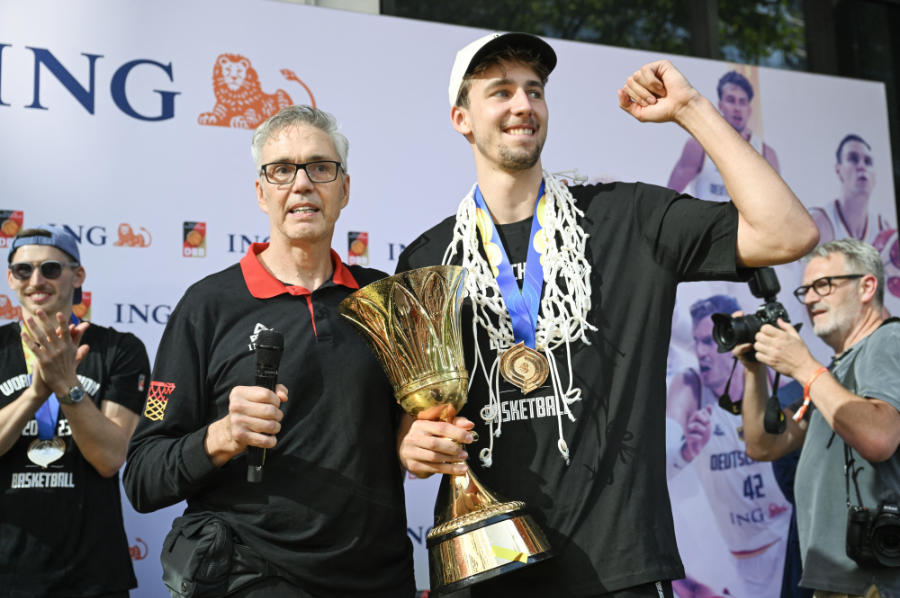
{"label": "black t-shirt of the clapping man in sunglasses", "polygon": [[[19,325],[0,328],[0,407],[28,388]],[[97,407],[108,400],[140,413],[150,363],[132,334],[92,324],[78,365]],[[95,596],[137,585],[122,523],[119,475],[104,478],[72,438],[63,410],[57,435],[66,452],[46,469],[27,457],[38,438],[32,419],[0,456],[0,596]]]}

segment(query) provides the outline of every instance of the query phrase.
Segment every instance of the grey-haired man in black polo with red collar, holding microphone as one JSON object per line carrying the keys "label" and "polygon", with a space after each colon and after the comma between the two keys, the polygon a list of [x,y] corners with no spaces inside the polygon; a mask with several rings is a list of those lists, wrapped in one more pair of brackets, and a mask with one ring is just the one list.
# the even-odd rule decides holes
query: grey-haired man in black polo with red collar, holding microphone
{"label": "grey-haired man in black polo with red collar, holding microphone", "polygon": [[[350,196],[348,147],[316,108],[287,107],[260,125],[251,153],[269,241],[189,288],[167,323],[124,481],[141,512],[187,500],[163,547],[173,595],[415,592],[399,407],[337,311],[384,276],[331,249]],[[284,338],[274,392],[255,385],[267,329]],[[254,447],[267,451],[251,482]]]}

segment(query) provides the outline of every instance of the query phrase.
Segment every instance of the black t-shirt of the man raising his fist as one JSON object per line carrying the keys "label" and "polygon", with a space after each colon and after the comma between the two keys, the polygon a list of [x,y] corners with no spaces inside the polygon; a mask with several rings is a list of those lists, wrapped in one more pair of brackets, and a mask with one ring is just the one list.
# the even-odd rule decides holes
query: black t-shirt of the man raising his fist
{"label": "black t-shirt of the man raising his fist", "polygon": [[[533,579],[516,587],[515,574],[498,579],[498,587],[527,595],[565,590],[583,596],[684,576],[665,478],[665,363],[675,289],[682,281],[738,276],[732,204],[643,184],[570,190],[589,235],[588,320],[597,327],[588,334],[590,345],[570,347],[572,384],[582,390],[582,400],[570,406],[575,421],[566,413],[557,418],[549,379],[527,396],[501,381],[499,435],[495,427],[493,465],[484,468],[477,455],[487,445],[488,428],[479,412],[488,393],[480,371],[473,374],[461,412],[476,422],[480,436],[467,447],[470,467],[489,489],[524,500],[553,545],[555,558],[536,565],[546,569],[546,588],[536,588]],[[454,220],[411,243],[398,271],[440,263]],[[502,228],[519,278],[528,232],[524,248],[514,239],[526,226],[530,230],[528,221]],[[468,299],[463,317],[466,333],[472,317]],[[465,337],[468,364],[474,350],[470,336]],[[487,337],[479,339],[489,366],[495,355]],[[566,389],[565,347],[555,355]],[[559,422],[570,465],[557,450]]]}

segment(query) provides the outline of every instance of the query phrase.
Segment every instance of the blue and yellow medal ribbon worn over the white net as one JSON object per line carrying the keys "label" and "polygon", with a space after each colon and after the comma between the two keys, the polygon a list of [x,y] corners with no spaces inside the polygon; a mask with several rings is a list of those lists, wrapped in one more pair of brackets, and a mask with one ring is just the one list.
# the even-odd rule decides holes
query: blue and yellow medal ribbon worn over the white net
{"label": "blue and yellow medal ribbon worn over the white net", "polygon": [[491,219],[490,211],[481,195],[481,189],[475,187],[476,222],[481,234],[481,243],[487,255],[491,272],[497,280],[506,311],[512,320],[513,336],[516,343],[524,342],[525,346],[534,349],[535,330],[537,329],[538,311],[541,306],[541,291],[544,287],[544,266],[541,264],[541,251],[535,246],[542,239],[537,239],[542,230],[539,211],[544,201],[544,181],[538,189],[538,200],[534,204],[534,217],[531,220],[531,234],[528,239],[528,257],[525,261],[525,277],[522,288],[519,288],[513,274],[512,264],[506,255],[503,241]]}

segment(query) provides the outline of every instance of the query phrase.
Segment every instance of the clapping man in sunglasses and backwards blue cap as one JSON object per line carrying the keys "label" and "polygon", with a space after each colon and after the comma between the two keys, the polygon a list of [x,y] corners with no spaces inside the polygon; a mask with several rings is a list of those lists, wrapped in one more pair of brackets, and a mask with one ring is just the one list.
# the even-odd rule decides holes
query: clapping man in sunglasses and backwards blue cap
{"label": "clapping man in sunglasses and backwards blue cap", "polygon": [[0,595],[127,598],[119,468],[147,352],[73,316],[85,269],[65,229],[21,231],[8,261],[22,316],[0,327]]}

